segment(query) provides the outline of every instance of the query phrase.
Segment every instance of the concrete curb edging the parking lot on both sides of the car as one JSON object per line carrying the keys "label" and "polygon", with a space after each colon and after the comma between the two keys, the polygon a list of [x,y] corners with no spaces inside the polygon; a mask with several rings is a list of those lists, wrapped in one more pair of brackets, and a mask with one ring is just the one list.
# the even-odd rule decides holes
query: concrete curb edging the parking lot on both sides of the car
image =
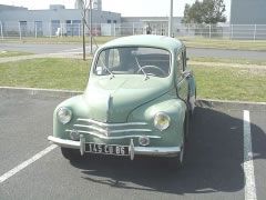
{"label": "concrete curb edging the parking lot on both sides of the car", "polygon": [[[14,88],[14,87],[0,87],[0,92],[6,96],[17,94],[17,96],[33,96],[33,97],[65,98],[65,99],[83,93],[82,91],[72,91],[72,90]],[[196,106],[201,108],[209,108],[209,109],[266,110],[266,102],[249,102],[249,101],[197,99]]]}

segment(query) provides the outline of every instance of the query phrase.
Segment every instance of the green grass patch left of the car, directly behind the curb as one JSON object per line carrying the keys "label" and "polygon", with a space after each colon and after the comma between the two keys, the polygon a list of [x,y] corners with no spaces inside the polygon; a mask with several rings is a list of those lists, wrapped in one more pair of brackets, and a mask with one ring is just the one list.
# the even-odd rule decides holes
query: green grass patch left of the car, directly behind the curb
{"label": "green grass patch left of the car, directly behind the curb", "polygon": [[90,60],[33,59],[0,64],[0,86],[84,90]]}

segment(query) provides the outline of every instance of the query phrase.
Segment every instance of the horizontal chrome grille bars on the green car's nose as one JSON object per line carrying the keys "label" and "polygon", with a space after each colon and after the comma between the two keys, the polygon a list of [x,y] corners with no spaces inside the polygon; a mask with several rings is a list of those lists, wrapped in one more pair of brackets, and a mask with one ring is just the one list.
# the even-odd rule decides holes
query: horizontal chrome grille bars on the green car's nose
{"label": "horizontal chrome grille bars on the green car's nose", "polygon": [[[146,122],[104,123],[91,119],[78,119],[73,126],[74,130],[83,134],[91,134],[102,139],[139,138],[152,132]],[[149,138],[161,138],[147,136]]]}

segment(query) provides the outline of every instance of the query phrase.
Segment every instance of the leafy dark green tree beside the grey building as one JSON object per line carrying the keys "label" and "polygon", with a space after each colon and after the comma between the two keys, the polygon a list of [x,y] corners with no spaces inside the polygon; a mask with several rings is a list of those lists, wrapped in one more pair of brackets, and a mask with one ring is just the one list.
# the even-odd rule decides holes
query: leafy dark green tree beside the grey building
{"label": "leafy dark green tree beside the grey building", "polygon": [[192,6],[186,4],[184,10],[184,23],[212,23],[225,22],[224,0],[196,0]]}

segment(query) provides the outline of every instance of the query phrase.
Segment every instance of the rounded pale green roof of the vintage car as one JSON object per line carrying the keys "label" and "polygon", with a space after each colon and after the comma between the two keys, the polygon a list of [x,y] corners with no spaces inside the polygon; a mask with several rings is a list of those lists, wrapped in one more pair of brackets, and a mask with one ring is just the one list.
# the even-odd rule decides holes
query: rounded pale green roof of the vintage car
{"label": "rounded pale green roof of the vintage car", "polygon": [[101,48],[132,47],[132,46],[155,47],[166,49],[173,52],[174,50],[183,47],[183,43],[177,39],[165,36],[141,34],[117,38],[106,42]]}

